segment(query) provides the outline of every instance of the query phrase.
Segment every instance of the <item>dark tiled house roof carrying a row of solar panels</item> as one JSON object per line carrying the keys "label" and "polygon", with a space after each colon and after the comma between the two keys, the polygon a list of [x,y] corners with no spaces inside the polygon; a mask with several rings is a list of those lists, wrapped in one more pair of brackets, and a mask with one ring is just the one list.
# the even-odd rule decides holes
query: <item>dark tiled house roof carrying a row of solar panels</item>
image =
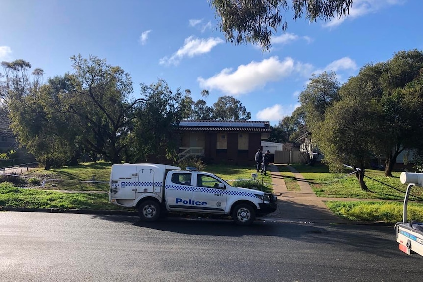
{"label": "dark tiled house roof carrying a row of solar panels", "polygon": [[268,121],[192,120],[181,121],[178,130],[270,132],[270,123]]}

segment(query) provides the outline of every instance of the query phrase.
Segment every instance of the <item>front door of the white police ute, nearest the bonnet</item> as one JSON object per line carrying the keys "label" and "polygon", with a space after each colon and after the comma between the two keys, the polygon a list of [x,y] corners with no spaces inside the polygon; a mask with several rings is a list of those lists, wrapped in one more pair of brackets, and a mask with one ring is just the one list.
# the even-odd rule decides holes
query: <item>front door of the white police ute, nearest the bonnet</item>
{"label": "front door of the white police ute, nearest the bonnet", "polygon": [[[226,208],[226,186],[221,189],[218,185],[222,183],[210,175],[197,173],[197,183],[192,193],[194,209],[224,212]],[[222,183],[224,184],[224,183]],[[199,203],[199,205],[196,205]]]}

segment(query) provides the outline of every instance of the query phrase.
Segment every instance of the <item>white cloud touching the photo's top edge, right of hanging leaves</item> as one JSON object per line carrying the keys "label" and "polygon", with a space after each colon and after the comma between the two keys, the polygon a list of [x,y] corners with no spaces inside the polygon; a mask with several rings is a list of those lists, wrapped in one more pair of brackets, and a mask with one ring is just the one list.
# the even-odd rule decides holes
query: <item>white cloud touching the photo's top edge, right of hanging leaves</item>
{"label": "white cloud touching the photo's top edge, right of hanging leaves", "polygon": [[403,4],[405,0],[354,0],[352,7],[349,9],[349,16],[332,19],[330,22],[324,23],[324,27],[339,26],[346,19],[355,19],[370,13],[376,13],[388,6]]}

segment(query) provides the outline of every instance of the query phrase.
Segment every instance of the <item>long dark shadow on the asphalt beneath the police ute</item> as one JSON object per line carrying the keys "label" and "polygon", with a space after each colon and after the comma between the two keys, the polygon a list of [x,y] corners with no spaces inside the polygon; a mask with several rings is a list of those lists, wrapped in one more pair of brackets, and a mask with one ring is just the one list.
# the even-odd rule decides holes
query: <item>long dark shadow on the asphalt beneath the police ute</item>
{"label": "long dark shadow on the asphalt beneath the police ute", "polygon": [[[194,219],[194,218],[166,218],[157,222],[142,222],[133,216],[104,216],[92,215],[94,218],[125,223],[139,228],[154,231],[165,231],[187,236],[187,239],[198,239],[197,236],[236,237],[246,240],[264,240],[266,237],[279,237],[292,240],[289,248],[295,250],[295,244],[336,244],[341,248],[353,249],[357,252],[371,253],[382,257],[392,257],[398,253],[395,241],[395,231],[391,227],[366,225],[332,225],[332,224],[304,224],[295,222],[263,222],[257,220],[251,226],[238,226],[232,220]],[[122,227],[125,228],[125,227]],[[129,232],[138,232],[129,227]],[[383,239],[392,233],[392,240]],[[253,237],[253,238],[248,238]],[[217,239],[219,240],[219,239]],[[377,252],[382,246],[384,252]],[[287,246],[288,247],[288,246]]]}

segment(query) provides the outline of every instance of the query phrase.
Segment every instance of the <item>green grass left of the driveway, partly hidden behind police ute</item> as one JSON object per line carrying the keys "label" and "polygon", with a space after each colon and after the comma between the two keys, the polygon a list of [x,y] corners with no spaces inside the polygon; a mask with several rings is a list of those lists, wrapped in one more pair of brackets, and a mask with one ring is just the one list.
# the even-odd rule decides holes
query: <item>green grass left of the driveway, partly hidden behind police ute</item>
{"label": "green grass left of the driveway, partly hidden behind police ute", "polygon": [[[62,193],[54,191],[106,192],[109,189],[110,170],[111,164],[109,163],[83,163],[78,166],[68,166],[49,171],[43,169],[30,170],[25,174],[27,177],[26,182],[23,182],[22,178],[7,177],[6,180],[18,181],[17,179],[20,179],[22,181],[18,181],[19,183],[15,185],[8,182],[0,183],[0,207],[120,210],[122,209],[121,207],[109,203],[106,193]],[[251,173],[255,172],[254,168],[210,165],[206,167],[205,171],[215,173],[234,186],[271,192],[270,176],[263,177],[264,185],[261,185],[261,177],[258,179],[260,181],[251,181]],[[84,182],[91,181],[93,176],[96,181],[107,183],[91,184]],[[43,180],[46,180],[45,185],[41,187],[40,183]],[[15,186],[25,188],[17,188]],[[36,189],[30,189],[30,187]]]}

